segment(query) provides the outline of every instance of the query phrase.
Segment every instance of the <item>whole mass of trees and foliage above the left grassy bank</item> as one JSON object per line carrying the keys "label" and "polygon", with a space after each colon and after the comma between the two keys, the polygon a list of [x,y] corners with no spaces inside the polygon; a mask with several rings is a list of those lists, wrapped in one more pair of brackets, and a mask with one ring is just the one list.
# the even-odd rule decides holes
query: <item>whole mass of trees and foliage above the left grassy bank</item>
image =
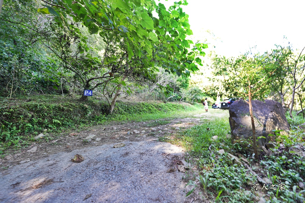
{"label": "whole mass of trees and foliage above the left grassy bank", "polygon": [[154,1],[7,0],[0,14],[2,92],[78,98],[91,89],[108,101],[108,113],[135,87],[153,84],[163,89],[164,101],[181,95],[176,85],[158,81],[160,68],[186,78],[198,70],[207,47],[187,39],[192,30],[182,5],[187,2],[166,9]]}

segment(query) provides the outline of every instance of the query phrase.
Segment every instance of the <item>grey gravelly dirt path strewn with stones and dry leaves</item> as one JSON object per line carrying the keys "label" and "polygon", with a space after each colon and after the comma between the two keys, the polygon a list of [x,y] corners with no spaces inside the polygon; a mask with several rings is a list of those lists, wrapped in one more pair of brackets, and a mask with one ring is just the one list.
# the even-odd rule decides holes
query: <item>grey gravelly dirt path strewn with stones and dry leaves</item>
{"label": "grey gravelly dirt path strewn with stones and dry leaves", "polygon": [[[163,120],[163,125],[150,121],[95,126],[63,134],[53,144],[33,143],[0,160],[9,166],[0,177],[0,201],[191,202],[182,180],[191,167],[183,149],[158,138],[170,139],[209,116]],[[84,142],[88,135],[95,136]],[[125,146],[113,148],[118,143]],[[84,161],[71,162],[75,154]]]}

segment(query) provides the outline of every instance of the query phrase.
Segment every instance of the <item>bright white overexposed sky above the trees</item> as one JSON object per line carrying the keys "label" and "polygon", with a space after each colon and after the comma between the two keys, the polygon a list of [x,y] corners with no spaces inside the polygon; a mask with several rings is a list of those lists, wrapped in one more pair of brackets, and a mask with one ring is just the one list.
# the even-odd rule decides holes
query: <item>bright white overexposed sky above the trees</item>
{"label": "bright white overexposed sky above the trees", "polygon": [[[168,9],[174,1],[160,2]],[[217,42],[208,41],[216,46],[218,55],[237,56],[254,46],[263,53],[274,48],[274,44],[284,45],[288,41],[294,49],[305,46],[303,0],[188,0],[182,8],[189,15],[196,39],[206,30],[219,38]]]}

